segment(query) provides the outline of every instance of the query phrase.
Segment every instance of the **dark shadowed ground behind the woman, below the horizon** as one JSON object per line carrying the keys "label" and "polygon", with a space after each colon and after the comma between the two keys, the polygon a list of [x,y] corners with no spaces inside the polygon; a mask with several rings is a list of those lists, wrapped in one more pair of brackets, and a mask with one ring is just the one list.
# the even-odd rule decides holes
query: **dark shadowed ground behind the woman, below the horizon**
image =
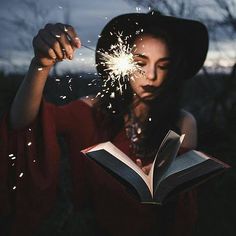
{"label": "dark shadowed ground behind the woman, below the horizon", "polygon": [[[72,91],[69,88],[71,80]],[[79,79],[79,75],[60,76],[48,80],[45,97],[55,104],[65,104],[79,97],[96,92],[88,86],[94,79]],[[0,75],[0,112],[7,110],[22,76]],[[199,150],[225,161],[232,168],[198,187],[199,218],[194,236],[236,235],[236,86],[225,75],[199,76],[187,82],[183,93],[183,107],[192,112],[198,122]],[[66,99],[61,99],[66,95]],[[43,235],[96,235],[96,222],[89,209],[75,213],[70,199],[71,181],[67,148],[59,137],[62,148],[61,173],[58,198],[50,216],[37,230]]]}

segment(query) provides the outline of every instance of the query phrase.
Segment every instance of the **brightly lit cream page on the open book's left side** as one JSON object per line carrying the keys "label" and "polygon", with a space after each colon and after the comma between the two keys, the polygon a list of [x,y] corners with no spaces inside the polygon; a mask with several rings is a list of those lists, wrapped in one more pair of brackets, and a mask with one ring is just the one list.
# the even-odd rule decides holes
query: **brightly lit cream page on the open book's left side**
{"label": "brightly lit cream page on the open book's left side", "polygon": [[109,152],[111,155],[113,155],[114,157],[122,161],[124,164],[126,164],[132,170],[134,170],[138,175],[140,175],[140,177],[144,180],[144,182],[146,183],[146,185],[148,186],[151,192],[150,178],[125,153],[123,153],[119,148],[117,148],[111,142],[100,143],[96,145],[95,147],[91,148],[88,152],[98,151],[102,149]]}

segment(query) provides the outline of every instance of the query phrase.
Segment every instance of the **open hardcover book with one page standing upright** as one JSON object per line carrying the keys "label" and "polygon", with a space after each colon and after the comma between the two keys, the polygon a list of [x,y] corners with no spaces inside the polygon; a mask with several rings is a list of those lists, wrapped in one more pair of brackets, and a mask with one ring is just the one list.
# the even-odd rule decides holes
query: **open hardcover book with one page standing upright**
{"label": "open hardcover book with one page standing upright", "polygon": [[82,152],[133,188],[141,202],[163,204],[229,168],[227,164],[195,150],[177,156],[183,139],[184,135],[168,132],[148,175],[111,142],[100,143]]}

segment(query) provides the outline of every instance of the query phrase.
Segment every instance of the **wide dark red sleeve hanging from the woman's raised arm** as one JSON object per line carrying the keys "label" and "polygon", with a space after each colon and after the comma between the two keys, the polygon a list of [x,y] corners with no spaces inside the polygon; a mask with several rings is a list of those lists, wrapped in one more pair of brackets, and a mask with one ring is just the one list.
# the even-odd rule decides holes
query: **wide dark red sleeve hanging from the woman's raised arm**
{"label": "wide dark red sleeve hanging from the woman's raised arm", "polygon": [[0,121],[0,217],[10,219],[10,235],[33,234],[54,205],[59,169],[55,131],[45,102],[24,130],[11,131],[8,114]]}

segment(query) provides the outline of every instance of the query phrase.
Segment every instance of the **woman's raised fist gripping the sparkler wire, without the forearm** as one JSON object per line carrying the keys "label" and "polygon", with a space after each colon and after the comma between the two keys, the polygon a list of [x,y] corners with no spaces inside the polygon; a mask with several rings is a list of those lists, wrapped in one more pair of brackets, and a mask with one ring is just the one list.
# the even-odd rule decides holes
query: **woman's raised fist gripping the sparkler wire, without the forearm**
{"label": "woman's raised fist gripping the sparkler wire, without the forearm", "polygon": [[35,61],[38,66],[51,68],[56,62],[73,59],[81,42],[74,28],[61,23],[47,24],[33,39]]}

